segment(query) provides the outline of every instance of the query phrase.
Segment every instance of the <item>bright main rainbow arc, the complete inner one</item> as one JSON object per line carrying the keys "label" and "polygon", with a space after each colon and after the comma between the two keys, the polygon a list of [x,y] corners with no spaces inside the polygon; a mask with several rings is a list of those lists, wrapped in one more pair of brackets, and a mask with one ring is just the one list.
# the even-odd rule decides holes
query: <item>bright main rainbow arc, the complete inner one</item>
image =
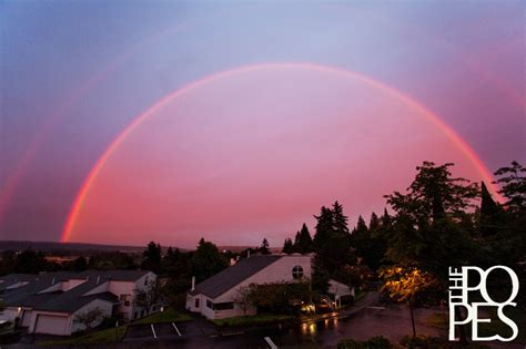
{"label": "bright main rainbow arc, the complete inner one", "polygon": [[367,75],[364,75],[362,73],[355,72],[355,71],[347,71],[343,70],[340,68],[335,66],[328,66],[328,65],[322,65],[322,64],[315,64],[315,63],[307,63],[307,62],[273,62],[273,63],[257,63],[257,64],[252,64],[252,65],[245,65],[241,68],[235,68],[226,71],[222,71],[219,73],[214,73],[208,76],[204,76],[200,80],[196,80],[194,82],[191,82],[181,89],[178,89],[168,95],[163,96],[161,100],[155,102],[153,105],[151,105],[148,110],[139,114],[120,134],[117,136],[113,142],[108,146],[108,148],[104,151],[102,156],[97,161],[95,165],[91,168],[90,173],[88,174],[87,178],[84,179],[74,202],[71,207],[70,214],[65,220],[63,230],[62,230],[62,236],[61,236],[61,242],[69,242],[71,238],[71,233],[74,228],[77,218],[82,211],[82,206],[84,204],[84,201],[89,194],[90,187],[99,173],[102,171],[113,152],[120,146],[120,144],[130,135],[133,133],[135,129],[138,129],[145,120],[151,117],[152,115],[155,114],[156,111],[162,109],[164,105],[166,105],[170,101],[173,99],[176,99],[183,94],[186,94],[189,92],[192,92],[200,86],[203,86],[210,82],[223,79],[223,78],[229,78],[233,75],[239,75],[243,73],[249,73],[253,71],[261,71],[261,70],[271,70],[271,69],[302,69],[302,70],[314,70],[318,72],[325,72],[325,73],[332,73],[332,74],[337,74],[340,76],[345,76],[345,78],[352,78],[356,79],[374,89],[378,89],[380,91],[386,92],[391,94],[392,96],[401,100],[404,102],[406,105],[413,107],[421,115],[426,117],[428,122],[431,122],[433,125],[438,127],[459,150],[461,152],[467,156],[472,161],[472,163],[475,165],[477,171],[479,172],[481,176],[483,179],[487,183],[489,186],[489,189],[493,195],[498,201],[502,201],[500,195],[497,193],[497,187],[493,184],[493,175],[486,167],[486,165],[481,161],[481,158],[477,156],[477,154],[474,152],[474,150],[463,140],[461,136],[452,130],[448,125],[446,125],[436,114],[434,114],[432,111],[426,109],[424,105],[415,101],[414,99],[409,97],[408,95],[404,94],[403,92],[395,90],[377,80],[374,80]]}

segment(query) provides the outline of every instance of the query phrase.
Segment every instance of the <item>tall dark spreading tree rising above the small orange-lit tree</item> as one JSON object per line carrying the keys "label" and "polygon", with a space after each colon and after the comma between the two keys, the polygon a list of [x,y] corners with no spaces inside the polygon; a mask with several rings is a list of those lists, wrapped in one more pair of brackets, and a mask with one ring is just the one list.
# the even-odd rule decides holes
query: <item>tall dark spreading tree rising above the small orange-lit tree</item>
{"label": "tall dark spreading tree rising above the small orange-lit tree", "polygon": [[406,194],[386,195],[396,213],[387,257],[395,264],[435,273],[447,288],[447,267],[463,265],[471,255],[468,234],[459,224],[467,207],[474,207],[478,186],[452,177],[446,163],[424,162]]}

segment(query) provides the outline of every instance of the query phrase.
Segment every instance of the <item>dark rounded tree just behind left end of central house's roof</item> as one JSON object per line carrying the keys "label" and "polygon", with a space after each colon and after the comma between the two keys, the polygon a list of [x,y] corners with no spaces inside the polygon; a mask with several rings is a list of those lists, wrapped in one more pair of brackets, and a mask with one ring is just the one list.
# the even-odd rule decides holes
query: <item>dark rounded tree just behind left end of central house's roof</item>
{"label": "dark rounded tree just behind left end of central house's roof", "polygon": [[198,248],[192,256],[192,275],[198,283],[218,274],[229,266],[226,258],[219,252],[218,247],[205,242],[199,240]]}

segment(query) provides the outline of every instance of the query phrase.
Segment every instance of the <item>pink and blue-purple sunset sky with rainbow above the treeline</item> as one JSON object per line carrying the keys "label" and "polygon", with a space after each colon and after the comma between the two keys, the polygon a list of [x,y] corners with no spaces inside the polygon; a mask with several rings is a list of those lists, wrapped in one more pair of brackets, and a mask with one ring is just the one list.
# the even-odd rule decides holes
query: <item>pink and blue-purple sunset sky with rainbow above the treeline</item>
{"label": "pink and blue-purple sunset sky with rainbow above the treeline", "polygon": [[0,238],[282,246],[526,164],[524,1],[0,2]]}

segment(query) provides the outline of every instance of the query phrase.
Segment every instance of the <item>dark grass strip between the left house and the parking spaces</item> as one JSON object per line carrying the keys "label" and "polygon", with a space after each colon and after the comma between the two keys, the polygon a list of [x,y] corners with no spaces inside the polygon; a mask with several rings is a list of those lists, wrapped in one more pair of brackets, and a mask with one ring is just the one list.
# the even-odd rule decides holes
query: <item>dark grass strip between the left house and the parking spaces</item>
{"label": "dark grass strip between the left house and the parking spaces", "polygon": [[[150,315],[145,318],[139,319],[131,324],[161,324],[161,322],[181,322],[181,321],[190,321],[192,317],[186,314],[179,314],[172,308],[168,308],[163,312],[156,312]],[[72,345],[72,346],[80,346],[80,345],[100,345],[100,343],[111,343],[115,341],[120,341],[124,338],[127,333],[128,326],[131,324],[127,324],[123,326],[119,326],[118,330],[115,328],[107,328],[100,331],[82,335],[79,337],[70,337],[64,339],[54,339],[54,340],[45,340],[39,342],[42,346],[59,346],[59,345]],[[117,333],[115,333],[117,332]]]}

